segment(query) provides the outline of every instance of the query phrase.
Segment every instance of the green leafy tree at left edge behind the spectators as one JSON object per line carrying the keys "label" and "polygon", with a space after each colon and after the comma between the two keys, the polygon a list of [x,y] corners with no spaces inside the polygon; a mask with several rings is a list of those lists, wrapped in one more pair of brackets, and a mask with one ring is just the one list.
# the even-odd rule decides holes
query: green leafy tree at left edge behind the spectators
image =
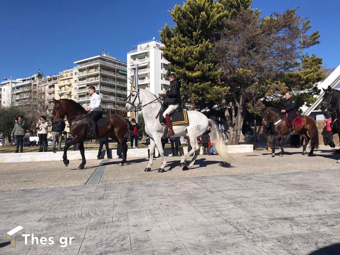
{"label": "green leafy tree at left edge behind the spectators", "polygon": [[15,124],[14,120],[19,115],[24,117],[24,112],[19,107],[0,107],[0,135],[4,137],[5,144],[11,141],[11,133]]}

